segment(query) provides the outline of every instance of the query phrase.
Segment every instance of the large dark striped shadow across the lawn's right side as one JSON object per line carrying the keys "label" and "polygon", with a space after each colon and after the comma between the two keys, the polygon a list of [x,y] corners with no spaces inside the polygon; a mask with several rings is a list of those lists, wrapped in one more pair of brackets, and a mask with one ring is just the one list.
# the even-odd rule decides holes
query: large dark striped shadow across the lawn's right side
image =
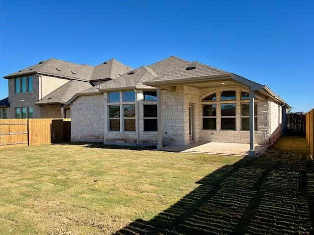
{"label": "large dark striped shadow across the lawn's right side", "polygon": [[314,165],[307,157],[266,150],[197,184],[155,218],[138,219],[115,234],[313,234]]}

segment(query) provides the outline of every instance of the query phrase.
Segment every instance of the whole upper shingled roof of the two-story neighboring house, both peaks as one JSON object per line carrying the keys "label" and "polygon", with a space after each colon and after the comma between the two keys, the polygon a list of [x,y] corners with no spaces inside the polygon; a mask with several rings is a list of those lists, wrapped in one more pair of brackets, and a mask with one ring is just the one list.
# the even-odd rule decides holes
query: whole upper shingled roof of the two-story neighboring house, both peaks
{"label": "whole upper shingled roof of the two-story neighboring house, both peaks", "polygon": [[96,81],[102,79],[113,79],[131,70],[128,66],[115,59],[110,59],[96,67],[90,65],[78,65],[57,59],[49,59],[26,69],[13,72],[4,78],[13,78],[34,73],[62,77],[81,81]]}

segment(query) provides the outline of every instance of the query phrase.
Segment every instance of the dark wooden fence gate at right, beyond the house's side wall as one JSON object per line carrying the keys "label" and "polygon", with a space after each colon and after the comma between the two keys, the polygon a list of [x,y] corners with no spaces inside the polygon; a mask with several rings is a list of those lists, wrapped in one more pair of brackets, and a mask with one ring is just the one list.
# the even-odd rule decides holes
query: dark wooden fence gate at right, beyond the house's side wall
{"label": "dark wooden fence gate at right, beyond the house's side wall", "polygon": [[306,115],[287,114],[287,134],[294,136],[306,135]]}

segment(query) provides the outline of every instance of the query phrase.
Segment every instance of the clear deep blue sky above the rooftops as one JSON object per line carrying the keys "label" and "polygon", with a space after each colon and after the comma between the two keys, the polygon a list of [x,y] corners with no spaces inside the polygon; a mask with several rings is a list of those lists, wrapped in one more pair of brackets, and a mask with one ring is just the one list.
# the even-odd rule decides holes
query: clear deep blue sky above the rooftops
{"label": "clear deep blue sky above the rooftops", "polygon": [[313,15],[312,0],[0,0],[0,77],[49,58],[114,57],[136,68],[176,55],[267,85],[308,111]]}

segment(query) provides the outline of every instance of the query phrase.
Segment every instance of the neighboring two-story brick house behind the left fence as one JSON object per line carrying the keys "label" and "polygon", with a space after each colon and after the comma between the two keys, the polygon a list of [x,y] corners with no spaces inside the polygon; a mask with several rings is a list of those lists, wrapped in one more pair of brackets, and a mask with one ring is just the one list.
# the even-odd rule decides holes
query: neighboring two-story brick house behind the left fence
{"label": "neighboring two-story brick house behind the left fence", "polygon": [[132,68],[110,59],[97,66],[57,59],[41,61],[4,76],[8,98],[0,100],[0,118],[70,118],[75,94],[119,77]]}

